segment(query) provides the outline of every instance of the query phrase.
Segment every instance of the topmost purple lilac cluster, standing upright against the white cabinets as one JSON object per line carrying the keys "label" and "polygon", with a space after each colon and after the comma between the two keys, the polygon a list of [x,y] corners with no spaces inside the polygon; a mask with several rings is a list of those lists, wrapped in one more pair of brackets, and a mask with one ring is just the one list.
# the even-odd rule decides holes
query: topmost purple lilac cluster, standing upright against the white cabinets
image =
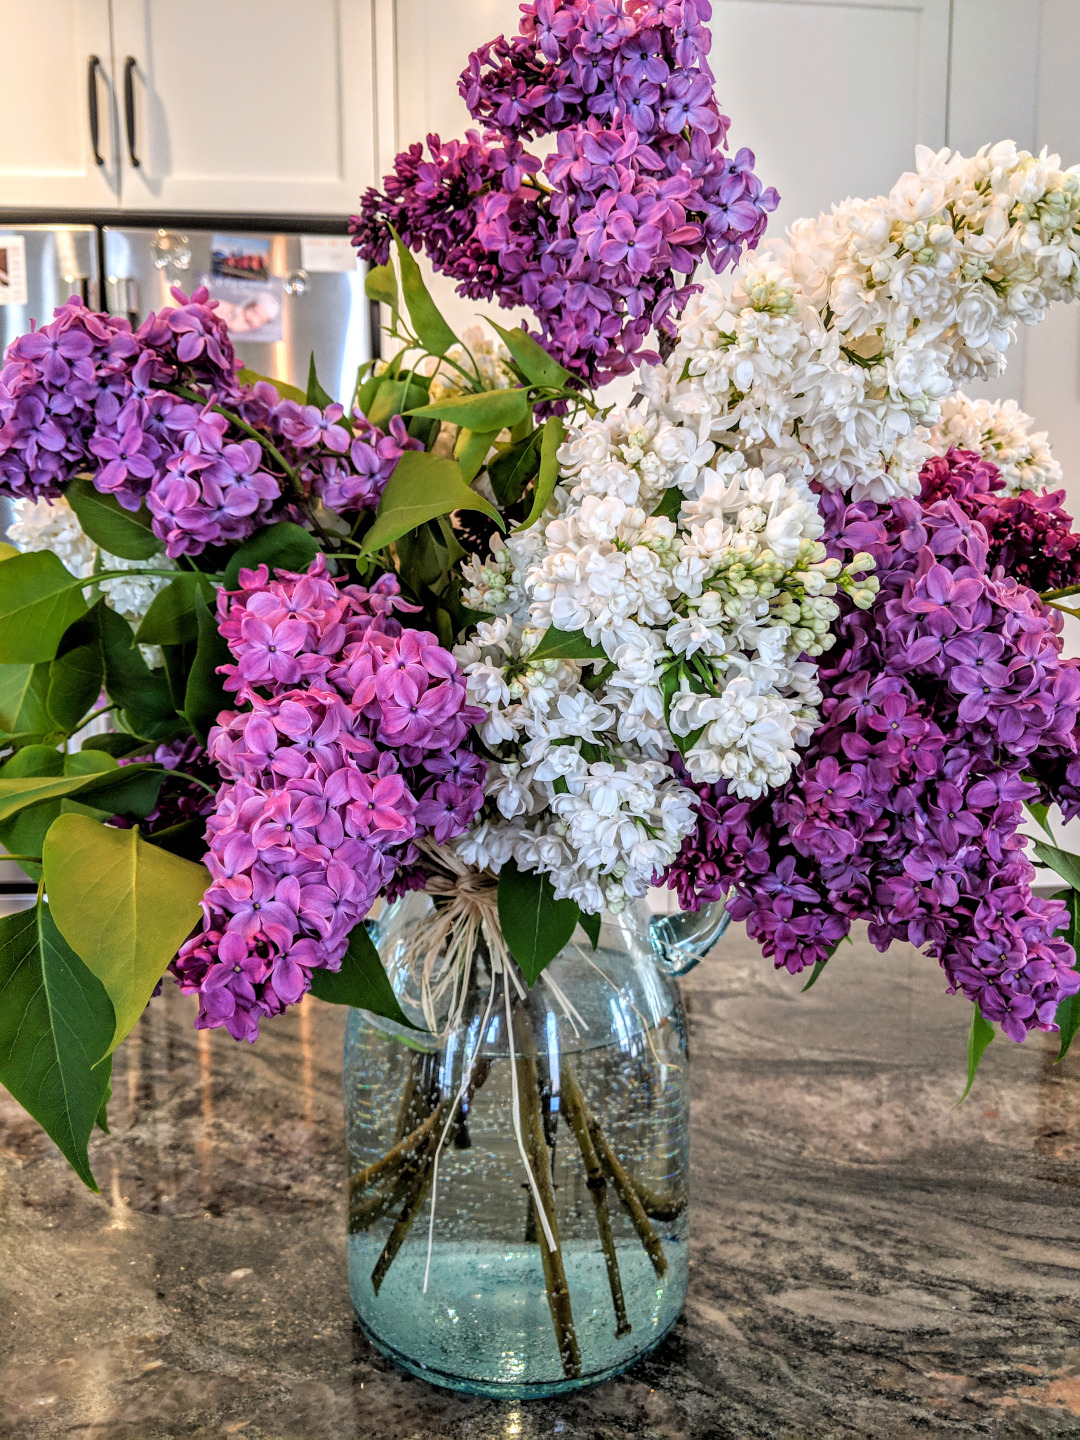
{"label": "topmost purple lilac cluster, standing upright against the white cabinets", "polygon": [[[354,243],[384,264],[390,225],[472,300],[527,305],[546,347],[599,382],[629,373],[703,258],[753,246],[776,207],[753,154],[724,154],[707,63],[708,0],[536,0],[520,33],[461,78],[488,128],[397,156],[369,190]],[[559,131],[543,167],[523,141]],[[543,179],[540,171],[543,168]]]}

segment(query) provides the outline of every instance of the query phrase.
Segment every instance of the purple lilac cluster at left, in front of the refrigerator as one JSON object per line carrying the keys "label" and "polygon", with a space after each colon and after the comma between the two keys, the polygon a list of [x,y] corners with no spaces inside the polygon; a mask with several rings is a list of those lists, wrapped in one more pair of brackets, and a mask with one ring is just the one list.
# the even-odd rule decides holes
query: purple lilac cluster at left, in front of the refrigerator
{"label": "purple lilac cluster at left, in front of the refrigerator", "polygon": [[176,307],[137,331],[71,300],[9,346],[0,492],[53,498],[89,471],[125,510],[147,505],[174,557],[242,541],[312,494],[340,510],[374,508],[416,444],[403,422],[384,435],[360,415],[346,420],[340,405],[321,410],[282,400],[266,382],[240,384],[207,291],[173,295]]}

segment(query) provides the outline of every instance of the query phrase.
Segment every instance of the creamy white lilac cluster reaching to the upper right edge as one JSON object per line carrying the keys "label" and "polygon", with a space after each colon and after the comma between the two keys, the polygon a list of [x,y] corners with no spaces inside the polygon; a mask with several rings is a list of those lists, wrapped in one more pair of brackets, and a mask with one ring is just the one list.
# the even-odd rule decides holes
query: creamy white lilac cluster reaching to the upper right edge
{"label": "creamy white lilac cluster reaching to the upper right edge", "polygon": [[1018,323],[1080,294],[1080,168],[1009,141],[919,148],[887,196],[847,200],[706,281],[652,405],[701,441],[852,498],[916,494],[927,428],[999,373]]}

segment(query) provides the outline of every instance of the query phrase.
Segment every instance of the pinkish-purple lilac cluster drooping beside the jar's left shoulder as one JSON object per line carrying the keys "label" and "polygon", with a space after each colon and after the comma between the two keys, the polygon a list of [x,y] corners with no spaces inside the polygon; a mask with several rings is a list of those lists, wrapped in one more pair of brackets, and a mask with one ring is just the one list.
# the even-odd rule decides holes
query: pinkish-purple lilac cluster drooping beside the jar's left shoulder
{"label": "pinkish-purple lilac cluster drooping beside the jar's left shoulder", "polygon": [[255,1040],[312,969],[338,969],[379,891],[399,871],[409,883],[419,840],[472,824],[484,711],[435,635],[402,628],[395,612],[413,609],[395,576],[341,588],[321,556],[275,580],[240,570],[240,590],[219,596],[226,688],[248,708],[210,732],[228,783],[207,825],[203,929],[173,965],[199,994],[197,1025]]}

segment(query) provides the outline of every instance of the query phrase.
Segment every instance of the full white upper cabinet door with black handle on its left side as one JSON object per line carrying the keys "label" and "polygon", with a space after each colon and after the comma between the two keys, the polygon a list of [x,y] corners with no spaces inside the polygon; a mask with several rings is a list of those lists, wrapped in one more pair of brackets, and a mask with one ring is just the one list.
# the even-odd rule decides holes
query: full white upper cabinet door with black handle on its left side
{"label": "full white upper cabinet door with black handle on its left side", "polygon": [[112,0],[112,23],[125,210],[357,207],[370,0]]}

